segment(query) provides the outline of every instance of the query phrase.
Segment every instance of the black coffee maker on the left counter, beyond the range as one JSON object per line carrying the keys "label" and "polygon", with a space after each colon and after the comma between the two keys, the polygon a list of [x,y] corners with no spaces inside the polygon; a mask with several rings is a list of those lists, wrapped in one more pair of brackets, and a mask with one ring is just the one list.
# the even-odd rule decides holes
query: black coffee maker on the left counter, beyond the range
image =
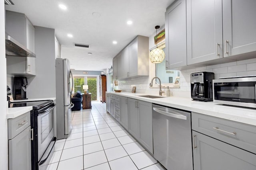
{"label": "black coffee maker on the left counter, beyond the range", "polygon": [[14,77],[14,86],[13,86],[14,100],[27,99],[27,96],[26,96],[27,85],[28,85],[28,80],[26,77],[23,77],[23,76]]}

